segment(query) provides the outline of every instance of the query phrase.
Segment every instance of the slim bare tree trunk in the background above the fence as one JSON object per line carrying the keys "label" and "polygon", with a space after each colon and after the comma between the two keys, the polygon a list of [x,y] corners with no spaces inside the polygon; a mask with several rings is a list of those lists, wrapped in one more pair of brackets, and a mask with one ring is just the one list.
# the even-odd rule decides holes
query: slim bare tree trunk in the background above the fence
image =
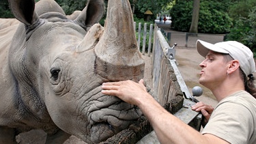
{"label": "slim bare tree trunk in the background above the fence", "polygon": [[193,0],[193,16],[192,16],[190,29],[189,29],[190,33],[197,33],[198,20],[199,20],[199,8],[200,8],[200,0]]}

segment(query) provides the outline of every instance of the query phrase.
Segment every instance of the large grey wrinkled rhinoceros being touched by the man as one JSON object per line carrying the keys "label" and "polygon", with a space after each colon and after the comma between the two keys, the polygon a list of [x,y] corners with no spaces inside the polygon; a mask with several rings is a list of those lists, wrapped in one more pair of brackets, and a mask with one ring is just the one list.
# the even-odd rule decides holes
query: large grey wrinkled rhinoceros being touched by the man
{"label": "large grey wrinkled rhinoceros being touched by the man", "polygon": [[99,143],[141,117],[137,106],[101,93],[104,82],[143,78],[128,0],[109,0],[104,27],[103,0],[72,18],[53,0],[9,2],[20,24],[0,47],[0,143],[33,129],[47,133],[46,143],[70,135]]}

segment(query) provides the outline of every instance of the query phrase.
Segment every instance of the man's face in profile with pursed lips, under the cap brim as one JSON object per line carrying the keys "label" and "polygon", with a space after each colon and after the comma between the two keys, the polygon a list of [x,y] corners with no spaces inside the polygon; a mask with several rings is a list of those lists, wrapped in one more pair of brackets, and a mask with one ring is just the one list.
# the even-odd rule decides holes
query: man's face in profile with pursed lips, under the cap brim
{"label": "man's face in profile with pursed lips, under the cap brim", "polygon": [[209,51],[199,66],[202,68],[199,83],[212,90],[221,85],[224,78],[227,77],[229,63],[224,61],[223,54]]}

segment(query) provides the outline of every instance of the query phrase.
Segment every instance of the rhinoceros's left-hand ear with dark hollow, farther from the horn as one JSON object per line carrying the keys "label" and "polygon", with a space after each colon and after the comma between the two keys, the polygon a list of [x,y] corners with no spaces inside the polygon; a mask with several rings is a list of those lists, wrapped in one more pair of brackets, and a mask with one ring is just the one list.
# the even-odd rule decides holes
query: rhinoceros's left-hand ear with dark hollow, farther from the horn
{"label": "rhinoceros's left-hand ear with dark hollow, farther from the horn", "polygon": [[38,20],[34,0],[9,0],[9,3],[14,16],[25,25],[32,25]]}

